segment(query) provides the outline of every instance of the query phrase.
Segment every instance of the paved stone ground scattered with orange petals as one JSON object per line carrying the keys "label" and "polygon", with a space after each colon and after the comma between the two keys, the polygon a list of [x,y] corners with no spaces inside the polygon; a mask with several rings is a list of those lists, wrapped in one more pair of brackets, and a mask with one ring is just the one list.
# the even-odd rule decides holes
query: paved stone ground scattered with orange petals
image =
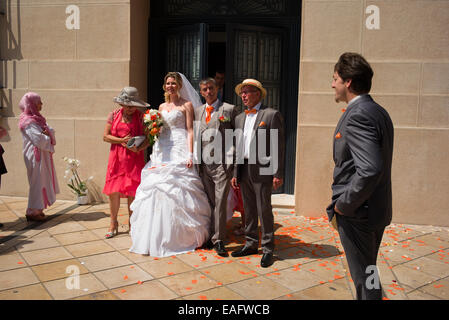
{"label": "paved stone ground scattered with orange petals", "polygon": [[[222,258],[212,250],[158,259],[128,252],[128,214],[120,208],[120,234],[104,239],[108,204],[57,201],[45,223],[27,223],[26,198],[0,197],[0,300],[186,299],[352,300],[354,287],[338,233],[327,218],[274,212],[275,263],[261,255]],[[229,225],[227,248],[243,244]],[[449,228],[392,224],[378,268],[390,300],[449,299]],[[79,271],[79,289],[76,278]]]}

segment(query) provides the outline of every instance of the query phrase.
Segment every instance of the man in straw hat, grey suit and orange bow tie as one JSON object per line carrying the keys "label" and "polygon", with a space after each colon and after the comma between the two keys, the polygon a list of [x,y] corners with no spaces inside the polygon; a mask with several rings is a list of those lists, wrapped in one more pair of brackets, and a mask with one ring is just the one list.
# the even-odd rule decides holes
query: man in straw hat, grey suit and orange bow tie
{"label": "man in straw hat, grey suit and orange bow tie", "polygon": [[284,124],[279,111],[262,106],[267,92],[259,81],[246,79],[236,86],[235,92],[246,110],[235,119],[236,131],[240,130],[241,134],[236,135],[237,159],[231,185],[241,186],[246,243],[231,255],[258,253],[260,220],[263,250],[260,265],[266,268],[273,263],[274,251],[271,193],[284,179]]}

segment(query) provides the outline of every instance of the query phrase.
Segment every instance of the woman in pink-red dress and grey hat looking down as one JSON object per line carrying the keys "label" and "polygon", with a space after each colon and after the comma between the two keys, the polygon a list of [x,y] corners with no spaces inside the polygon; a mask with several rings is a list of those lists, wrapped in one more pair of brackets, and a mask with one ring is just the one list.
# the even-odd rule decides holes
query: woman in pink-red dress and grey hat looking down
{"label": "woman in pink-red dress and grey hat looking down", "polygon": [[138,147],[127,147],[132,137],[145,135],[143,113],[137,108],[149,107],[149,104],[139,100],[137,89],[124,88],[120,95],[114,98],[114,102],[121,107],[109,114],[103,135],[103,140],[111,144],[106,183],[103,189],[103,193],[109,196],[111,209],[111,225],[105,236],[106,239],[118,233],[117,215],[120,198],[128,198],[128,212],[131,218],[132,211],[129,206],[140,184],[140,174],[145,165],[144,150],[149,145],[148,140],[145,139]]}

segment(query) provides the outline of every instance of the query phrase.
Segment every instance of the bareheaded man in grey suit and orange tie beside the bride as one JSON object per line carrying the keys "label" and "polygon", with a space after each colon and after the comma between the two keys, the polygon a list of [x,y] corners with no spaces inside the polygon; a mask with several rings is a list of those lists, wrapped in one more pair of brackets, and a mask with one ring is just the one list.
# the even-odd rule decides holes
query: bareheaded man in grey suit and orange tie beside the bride
{"label": "bareheaded man in grey suit and orange tie beside the bride", "polygon": [[202,155],[197,169],[212,211],[211,239],[206,247],[213,247],[218,255],[227,257],[224,241],[229,181],[233,173],[232,132],[237,110],[233,105],[218,100],[218,88],[213,78],[200,82],[200,93],[206,104],[198,108],[195,114],[195,119],[200,122],[196,141],[201,144]]}

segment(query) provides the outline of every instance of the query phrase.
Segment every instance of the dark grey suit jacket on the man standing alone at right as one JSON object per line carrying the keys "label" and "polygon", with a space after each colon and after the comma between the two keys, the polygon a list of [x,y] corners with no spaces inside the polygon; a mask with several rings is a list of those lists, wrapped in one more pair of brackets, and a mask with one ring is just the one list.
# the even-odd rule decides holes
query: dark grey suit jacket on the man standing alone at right
{"label": "dark grey suit jacket on the man standing alone at right", "polygon": [[391,222],[393,123],[370,95],[363,95],[341,116],[334,133],[334,176],[329,221],[335,205],[369,228]]}

